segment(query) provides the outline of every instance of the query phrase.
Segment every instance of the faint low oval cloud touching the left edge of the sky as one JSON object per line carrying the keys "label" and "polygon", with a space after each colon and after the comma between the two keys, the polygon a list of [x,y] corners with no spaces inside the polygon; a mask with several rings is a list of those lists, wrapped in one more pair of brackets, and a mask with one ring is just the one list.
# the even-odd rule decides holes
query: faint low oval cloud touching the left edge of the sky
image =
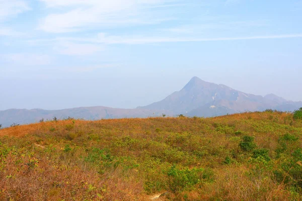
{"label": "faint low oval cloud touching the left edge of the sky", "polygon": [[52,58],[48,55],[28,53],[4,54],[0,55],[0,58],[4,59],[8,63],[23,66],[47,65],[52,61]]}

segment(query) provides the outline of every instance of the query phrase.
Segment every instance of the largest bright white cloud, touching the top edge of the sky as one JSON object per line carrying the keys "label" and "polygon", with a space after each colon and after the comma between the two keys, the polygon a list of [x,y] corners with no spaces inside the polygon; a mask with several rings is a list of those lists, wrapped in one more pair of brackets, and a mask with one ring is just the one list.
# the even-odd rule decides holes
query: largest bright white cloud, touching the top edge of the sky
{"label": "largest bright white cloud, touching the top edge of the sky", "polygon": [[169,5],[172,0],[40,0],[51,8],[68,8],[65,12],[47,15],[40,24],[45,32],[64,33],[83,28],[97,29],[104,26],[152,24],[167,20],[164,16],[147,14],[150,6]]}

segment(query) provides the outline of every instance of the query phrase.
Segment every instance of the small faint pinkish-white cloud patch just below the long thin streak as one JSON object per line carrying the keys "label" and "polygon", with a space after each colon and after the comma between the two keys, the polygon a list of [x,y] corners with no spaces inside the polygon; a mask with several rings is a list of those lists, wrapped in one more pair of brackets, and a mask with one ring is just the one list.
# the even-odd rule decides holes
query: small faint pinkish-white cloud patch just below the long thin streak
{"label": "small faint pinkish-white cloud patch just below the long thin streak", "polygon": [[100,44],[78,44],[71,42],[59,42],[54,50],[64,55],[90,55],[104,50]]}

